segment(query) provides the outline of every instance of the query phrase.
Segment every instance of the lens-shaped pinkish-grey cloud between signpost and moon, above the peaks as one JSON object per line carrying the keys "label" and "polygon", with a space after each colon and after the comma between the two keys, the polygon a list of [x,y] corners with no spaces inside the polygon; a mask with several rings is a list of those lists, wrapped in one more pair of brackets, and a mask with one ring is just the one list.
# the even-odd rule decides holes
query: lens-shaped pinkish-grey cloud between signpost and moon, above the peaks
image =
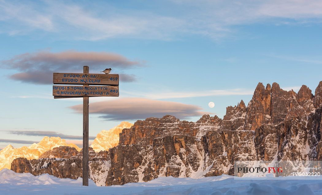
{"label": "lens-shaped pinkish-grey cloud between signpost and moon, above the peaks", "polygon": [[[78,113],[83,112],[82,105],[70,108]],[[145,119],[165,115],[186,119],[193,116],[202,116],[203,114],[213,114],[203,112],[202,108],[194,105],[146,98],[120,98],[91,103],[90,113],[99,114],[101,118],[109,120]]]}

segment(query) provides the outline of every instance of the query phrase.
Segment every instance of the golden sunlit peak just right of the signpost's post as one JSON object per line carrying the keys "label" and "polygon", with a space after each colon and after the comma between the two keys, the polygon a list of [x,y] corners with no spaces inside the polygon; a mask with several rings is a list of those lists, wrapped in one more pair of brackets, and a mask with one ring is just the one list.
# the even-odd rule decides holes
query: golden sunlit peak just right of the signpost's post
{"label": "golden sunlit peak just right of the signpost's post", "polygon": [[97,134],[90,147],[92,147],[95,152],[104,150],[108,151],[109,148],[118,145],[119,134],[122,132],[122,130],[124,128],[130,128],[132,125],[132,123],[123,121],[110,130],[102,130],[99,134]]}

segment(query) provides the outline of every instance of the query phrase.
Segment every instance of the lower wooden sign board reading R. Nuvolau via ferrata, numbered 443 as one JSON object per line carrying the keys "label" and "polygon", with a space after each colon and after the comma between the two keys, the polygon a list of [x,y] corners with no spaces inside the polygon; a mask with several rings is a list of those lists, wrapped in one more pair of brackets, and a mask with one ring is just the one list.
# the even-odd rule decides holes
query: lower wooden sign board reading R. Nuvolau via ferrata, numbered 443
{"label": "lower wooden sign board reading R. Nuvolau via ferrata, numbered 443", "polygon": [[54,98],[69,97],[118,97],[118,86],[53,85]]}

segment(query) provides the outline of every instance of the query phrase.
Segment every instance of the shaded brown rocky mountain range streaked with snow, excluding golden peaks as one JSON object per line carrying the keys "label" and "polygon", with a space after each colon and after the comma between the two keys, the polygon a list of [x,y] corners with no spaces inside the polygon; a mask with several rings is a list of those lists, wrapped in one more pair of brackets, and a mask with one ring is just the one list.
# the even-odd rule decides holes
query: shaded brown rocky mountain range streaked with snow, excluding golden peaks
{"label": "shaded brown rocky mountain range streaked with snow, excluding golden peaks", "polygon": [[[296,93],[282,90],[277,83],[266,87],[259,83],[248,105],[241,101],[237,106],[227,107],[223,119],[204,115],[196,122],[188,122],[167,115],[138,120],[122,130],[118,145],[108,152],[90,150],[93,153],[90,163],[95,164],[90,165],[90,177],[99,185],[109,186],[160,176],[232,175],[234,161],[241,160],[320,160],[321,104],[322,81],[314,95],[305,85]],[[74,159],[81,166],[76,160],[81,157],[73,156],[68,160]],[[76,177],[76,173],[68,175],[64,171],[64,167],[74,163],[66,164],[67,159],[62,164],[56,162],[61,159],[33,162],[20,158],[12,163],[11,169],[40,174],[43,172],[34,170],[49,160],[53,161],[51,170],[61,170],[49,173]],[[28,166],[31,168],[26,170],[24,167]],[[80,170],[77,172],[81,174]]]}

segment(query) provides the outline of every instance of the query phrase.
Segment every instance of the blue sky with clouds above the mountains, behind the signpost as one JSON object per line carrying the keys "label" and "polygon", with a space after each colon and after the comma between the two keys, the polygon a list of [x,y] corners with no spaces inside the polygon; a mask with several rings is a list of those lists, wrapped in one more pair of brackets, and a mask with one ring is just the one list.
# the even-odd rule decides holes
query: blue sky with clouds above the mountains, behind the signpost
{"label": "blue sky with clouds above the mountains, behind the signpost", "polygon": [[58,134],[80,144],[82,99],[53,99],[51,77],[84,65],[121,77],[119,97],[90,98],[92,137],[149,116],[222,118],[258,82],[314,94],[321,22],[320,1],[0,0],[0,148]]}

